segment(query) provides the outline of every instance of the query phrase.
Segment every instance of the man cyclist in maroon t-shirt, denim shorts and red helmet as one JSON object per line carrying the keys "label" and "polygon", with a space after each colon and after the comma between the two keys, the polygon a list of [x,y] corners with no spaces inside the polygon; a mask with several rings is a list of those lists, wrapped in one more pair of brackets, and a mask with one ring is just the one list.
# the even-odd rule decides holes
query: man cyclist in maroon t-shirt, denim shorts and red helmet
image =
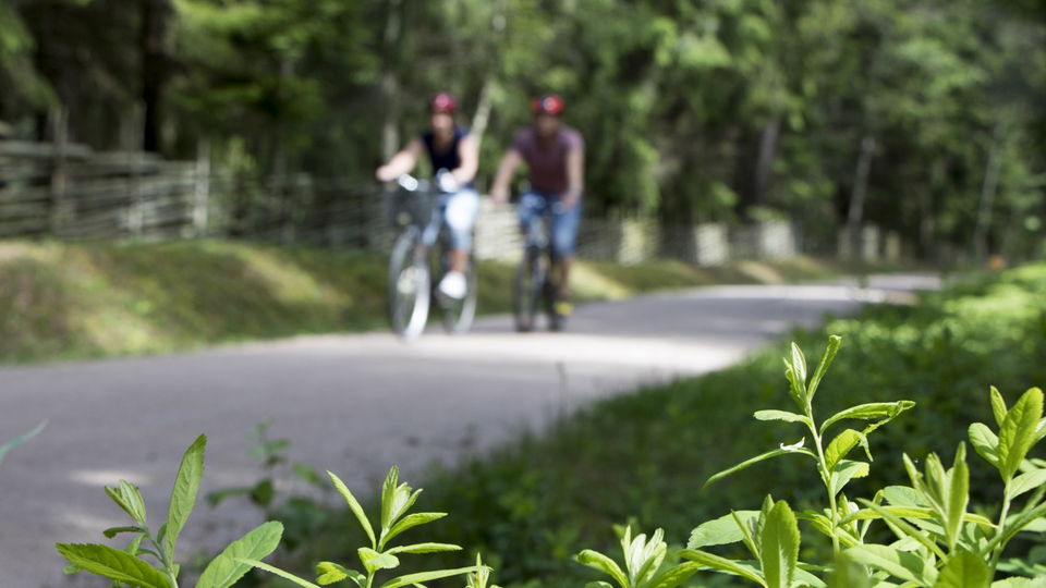
{"label": "man cyclist in maroon t-shirt, denim shorts and red helmet", "polygon": [[533,123],[516,132],[501,158],[490,196],[497,204],[506,203],[513,172],[526,162],[531,187],[520,197],[520,229],[530,244],[535,238],[534,221],[543,215],[551,217],[552,271],[559,289],[556,313],[568,316],[572,310],[570,266],[581,221],[585,143],[581,133],[562,123],[562,112],[563,99],[555,94],[531,100]]}

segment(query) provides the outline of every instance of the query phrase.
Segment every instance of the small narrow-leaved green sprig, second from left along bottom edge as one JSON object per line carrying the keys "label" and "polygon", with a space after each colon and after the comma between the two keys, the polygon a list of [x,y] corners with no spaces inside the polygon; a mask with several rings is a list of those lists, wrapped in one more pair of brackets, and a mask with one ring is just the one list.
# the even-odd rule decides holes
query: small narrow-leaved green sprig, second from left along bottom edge
{"label": "small narrow-leaved green sprig, second from left along bottom edge", "polygon": [[[356,550],[363,572],[349,568],[335,562],[320,562],[316,566],[316,583],[318,583],[318,585],[327,586],[339,581],[350,580],[360,588],[374,588],[375,578],[378,573],[382,571],[396,569],[400,566],[400,555],[458,551],[461,549],[459,546],[435,542],[422,542],[391,547],[392,539],[399,537],[400,534],[447,516],[447,513],[408,514],[411,507],[417,501],[417,497],[422,493],[422,490],[413,490],[406,482],[400,483],[399,469],[397,467],[393,466],[389,470],[388,476],[385,478],[385,483],[381,487],[381,512],[377,532],[375,532],[375,526],[372,525],[370,519],[367,518],[367,515],[364,512],[363,506],[360,504],[360,501],[356,500],[341,478],[331,471],[328,471],[327,474],[330,476],[335,488],[344,498],[345,503],[348,503],[349,509],[352,511],[353,515],[355,515],[360,526],[367,535],[367,538],[369,539],[369,547],[363,546]],[[256,559],[243,558],[239,561],[243,564],[253,565],[260,569],[265,569],[266,572],[276,574],[297,584],[299,586],[304,586],[306,588],[317,587],[317,584],[295,576],[294,574],[280,569],[276,566],[259,562]],[[471,583],[470,585],[475,585],[477,588],[483,588],[488,581],[489,576],[485,575],[488,573],[488,568],[482,565],[482,563],[479,563],[477,560],[476,565],[473,566],[453,569],[431,569],[427,572],[418,572],[393,577],[378,585],[378,588],[421,586],[421,584],[424,581],[431,581],[440,578],[461,575],[471,575],[467,580]]]}

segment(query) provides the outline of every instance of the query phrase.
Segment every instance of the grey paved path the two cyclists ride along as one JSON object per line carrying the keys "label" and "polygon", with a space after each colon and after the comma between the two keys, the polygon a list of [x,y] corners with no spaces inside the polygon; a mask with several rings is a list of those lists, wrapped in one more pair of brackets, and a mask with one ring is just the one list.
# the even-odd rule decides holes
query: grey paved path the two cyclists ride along
{"label": "grey paved path the two cyclists ride along", "polygon": [[[0,583],[106,586],[63,577],[52,543],[96,541],[125,524],[101,490],[121,478],[142,488],[158,520],[199,432],[209,437],[204,491],[256,479],[247,431],[272,419],[272,434],[293,441],[293,460],[365,492],[391,464],[416,479],[431,461],[452,463],[591,400],[725,367],[826,311],[936,283],[907,275],[876,278],[871,290],[708,287],[587,305],[567,333],[520,335],[509,318],[491,317],[469,335],[431,333],[411,345],[385,333],[309,336],[0,369],[0,439],[49,419],[0,465]],[[202,506],[186,540],[222,541],[233,530],[208,520],[252,514]]]}

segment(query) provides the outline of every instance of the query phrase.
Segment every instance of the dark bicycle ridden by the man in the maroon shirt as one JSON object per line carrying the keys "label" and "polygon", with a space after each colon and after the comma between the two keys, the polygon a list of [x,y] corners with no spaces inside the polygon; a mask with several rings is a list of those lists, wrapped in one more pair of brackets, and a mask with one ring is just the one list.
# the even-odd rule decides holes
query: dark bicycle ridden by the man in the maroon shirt
{"label": "dark bicycle ridden by the man in the maroon shirt", "polygon": [[552,249],[545,230],[545,218],[538,217],[532,225],[533,238],[527,238],[523,260],[512,281],[512,317],[521,333],[534,330],[538,306],[543,306],[548,329],[560,331],[567,317],[556,310],[559,285],[552,277]]}

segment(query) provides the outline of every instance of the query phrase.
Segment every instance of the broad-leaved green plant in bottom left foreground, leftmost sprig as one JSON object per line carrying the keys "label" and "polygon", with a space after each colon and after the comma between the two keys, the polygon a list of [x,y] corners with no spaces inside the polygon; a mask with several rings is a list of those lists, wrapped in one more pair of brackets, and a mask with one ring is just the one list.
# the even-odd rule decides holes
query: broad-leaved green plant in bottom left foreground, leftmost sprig
{"label": "broad-leaved green plant in bottom left foreground, leftmost sprig", "polygon": [[[196,505],[196,494],[204,474],[204,452],[207,438],[199,436],[182,456],[171,490],[167,518],[154,531],[147,520],[145,500],[138,489],[120,480],[106,493],[131,517],[132,524],[104,531],[107,538],[130,534],[131,541],[123,550],[100,543],[58,543],[59,553],[72,564],[69,573],[88,572],[112,579],[114,588],[178,588],[181,566],[174,562],[179,536]],[[228,588],[233,586],[251,566],[241,560],[260,560],[271,553],[280,541],[283,526],[277,522],[259,525],[230,543],[204,568],[196,588]]]}

